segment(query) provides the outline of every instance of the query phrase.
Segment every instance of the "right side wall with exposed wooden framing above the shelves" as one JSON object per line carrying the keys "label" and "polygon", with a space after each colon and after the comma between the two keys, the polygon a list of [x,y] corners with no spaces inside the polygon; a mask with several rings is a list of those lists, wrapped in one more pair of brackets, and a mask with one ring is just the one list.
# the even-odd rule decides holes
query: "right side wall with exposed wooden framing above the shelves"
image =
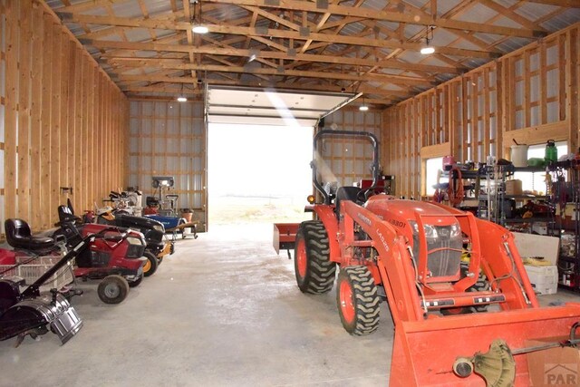
{"label": "right side wall with exposed wooden framing above the shelves", "polygon": [[578,34],[580,23],[384,111],[383,165],[398,179],[396,194],[424,194],[429,158],[509,159],[514,140],[567,140],[577,150]]}

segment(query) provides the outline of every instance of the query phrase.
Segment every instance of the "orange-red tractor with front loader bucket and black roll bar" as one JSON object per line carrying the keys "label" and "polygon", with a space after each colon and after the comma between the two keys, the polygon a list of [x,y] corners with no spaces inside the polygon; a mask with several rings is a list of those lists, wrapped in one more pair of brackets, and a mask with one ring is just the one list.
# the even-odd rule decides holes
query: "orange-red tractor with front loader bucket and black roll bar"
{"label": "orange-red tractor with front loader bucket and black roll bar", "polygon": [[374,332],[386,298],[395,325],[391,386],[529,385],[533,356],[580,343],[580,304],[539,306],[506,228],[441,204],[376,194],[374,183],[330,194],[315,160],[324,136],[370,140],[378,179],[372,133],[319,131],[312,167],[324,200],[306,208],[316,220],[295,225],[295,237],[286,225],[284,243],[295,238],[304,293],[329,292],[339,267],[336,300],[350,334]]}

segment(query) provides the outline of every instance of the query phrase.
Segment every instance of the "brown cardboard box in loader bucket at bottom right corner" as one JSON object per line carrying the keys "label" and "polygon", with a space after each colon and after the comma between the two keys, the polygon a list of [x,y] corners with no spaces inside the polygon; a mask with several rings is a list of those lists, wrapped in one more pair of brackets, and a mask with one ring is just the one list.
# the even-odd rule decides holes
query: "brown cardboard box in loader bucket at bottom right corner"
{"label": "brown cardboard box in loader bucket at bottom right corner", "polygon": [[[526,346],[561,343],[568,337],[527,340]],[[527,371],[533,387],[580,385],[580,350],[572,347],[551,348],[527,353]]]}

